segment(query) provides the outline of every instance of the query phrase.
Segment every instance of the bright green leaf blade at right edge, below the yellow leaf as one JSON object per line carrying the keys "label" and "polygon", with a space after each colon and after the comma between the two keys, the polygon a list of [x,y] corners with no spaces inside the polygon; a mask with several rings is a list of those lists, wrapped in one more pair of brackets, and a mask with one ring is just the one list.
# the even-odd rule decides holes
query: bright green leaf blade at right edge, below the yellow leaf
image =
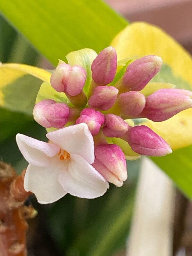
{"label": "bright green leaf blade at right edge, below the yellow leaf", "polygon": [[190,200],[192,200],[191,156],[192,146],[188,146],[163,157],[151,157]]}

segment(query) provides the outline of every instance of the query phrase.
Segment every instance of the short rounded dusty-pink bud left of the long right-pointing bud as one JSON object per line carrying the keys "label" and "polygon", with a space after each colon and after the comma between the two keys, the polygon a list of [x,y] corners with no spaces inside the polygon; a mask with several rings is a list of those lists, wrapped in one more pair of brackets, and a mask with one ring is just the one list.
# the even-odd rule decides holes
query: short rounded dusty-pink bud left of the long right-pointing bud
{"label": "short rounded dusty-pink bud left of the long right-pointing bud", "polygon": [[118,96],[121,113],[130,116],[139,115],[145,106],[145,96],[139,92],[121,93]]}

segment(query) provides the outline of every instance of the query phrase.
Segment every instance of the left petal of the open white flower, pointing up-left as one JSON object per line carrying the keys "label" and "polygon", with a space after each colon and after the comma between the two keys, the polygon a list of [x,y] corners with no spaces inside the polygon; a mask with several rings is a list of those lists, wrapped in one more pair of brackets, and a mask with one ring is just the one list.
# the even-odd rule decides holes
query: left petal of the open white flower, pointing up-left
{"label": "left petal of the open white flower, pointing up-left", "polygon": [[57,145],[43,142],[20,133],[16,135],[16,141],[27,162],[36,166],[48,166],[50,157],[56,155],[60,150],[60,147]]}

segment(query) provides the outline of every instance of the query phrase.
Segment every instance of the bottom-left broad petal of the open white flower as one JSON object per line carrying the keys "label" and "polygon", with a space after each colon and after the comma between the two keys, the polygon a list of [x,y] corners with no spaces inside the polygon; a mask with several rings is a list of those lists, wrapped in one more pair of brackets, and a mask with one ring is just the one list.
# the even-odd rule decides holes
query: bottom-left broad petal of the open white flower
{"label": "bottom-left broad petal of the open white flower", "polygon": [[62,198],[67,192],[58,181],[61,166],[57,161],[51,161],[48,167],[29,164],[25,173],[24,189],[33,192],[41,204],[53,203]]}

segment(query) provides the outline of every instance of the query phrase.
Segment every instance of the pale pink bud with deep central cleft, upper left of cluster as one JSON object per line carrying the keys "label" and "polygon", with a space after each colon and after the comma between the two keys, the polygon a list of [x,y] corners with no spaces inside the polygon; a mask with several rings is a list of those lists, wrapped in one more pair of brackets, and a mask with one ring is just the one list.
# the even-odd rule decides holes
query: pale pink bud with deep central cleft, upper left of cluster
{"label": "pale pink bud with deep central cleft, upper left of cluster", "polygon": [[81,93],[87,78],[82,66],[59,64],[51,75],[51,86],[59,93],[76,96]]}

